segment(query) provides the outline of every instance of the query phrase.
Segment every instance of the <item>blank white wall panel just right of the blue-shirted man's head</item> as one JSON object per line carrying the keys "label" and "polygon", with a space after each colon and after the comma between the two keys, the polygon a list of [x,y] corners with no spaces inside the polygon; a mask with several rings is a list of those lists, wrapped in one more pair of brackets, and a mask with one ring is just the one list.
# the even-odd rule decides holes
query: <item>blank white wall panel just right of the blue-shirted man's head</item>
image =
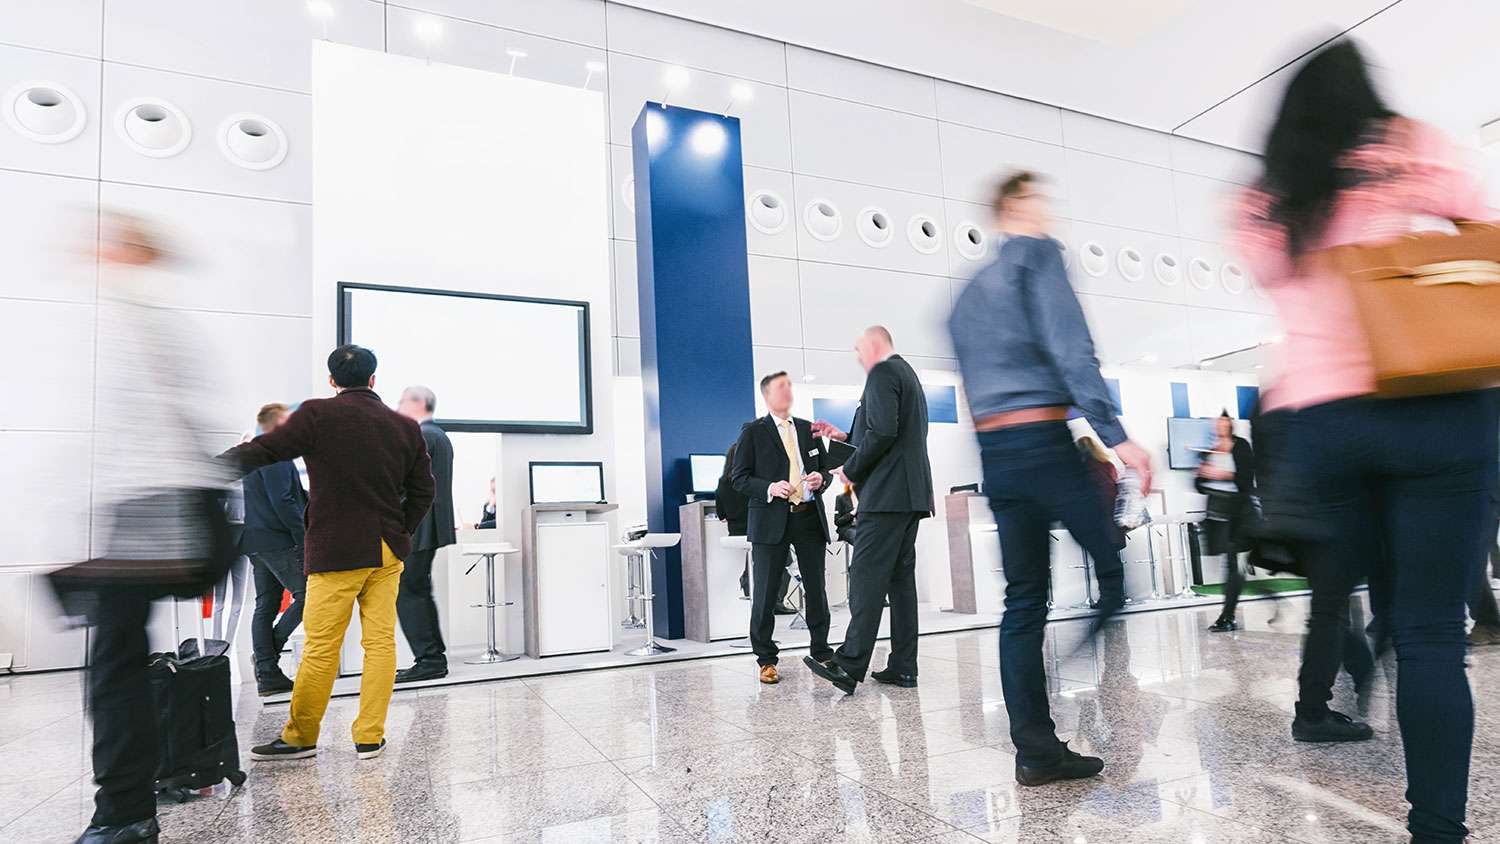
{"label": "blank white wall panel just right of the blue-shirted man's head", "polygon": [[1066,151],[1068,216],[1160,234],[1178,232],[1172,171],[1078,150]]}

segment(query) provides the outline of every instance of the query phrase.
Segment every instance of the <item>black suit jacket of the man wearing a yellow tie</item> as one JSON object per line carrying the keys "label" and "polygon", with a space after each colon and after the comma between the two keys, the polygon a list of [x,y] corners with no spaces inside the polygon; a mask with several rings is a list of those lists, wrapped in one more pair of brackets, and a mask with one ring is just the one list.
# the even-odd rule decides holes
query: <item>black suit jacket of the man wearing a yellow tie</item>
{"label": "black suit jacket of the man wearing a yellow tie", "polygon": [[[824,513],[822,496],[830,480],[828,471],[824,468],[828,450],[822,439],[813,436],[813,426],[807,420],[792,417],[792,427],[796,429],[796,453],[802,457],[802,472],[818,472],[824,477],[818,492],[812,493],[812,498],[804,495],[804,501],[812,504],[813,511],[818,513],[818,523],[822,526],[826,543],[828,514]],[[788,480],[789,475],[786,447],[782,444],[782,433],[770,414],[741,429],[740,442],[735,447],[734,486],[740,495],[750,501],[746,535],[752,543],[780,543],[786,538],[786,517],[792,508],[784,498],[766,501],[766,490],[776,481]]]}

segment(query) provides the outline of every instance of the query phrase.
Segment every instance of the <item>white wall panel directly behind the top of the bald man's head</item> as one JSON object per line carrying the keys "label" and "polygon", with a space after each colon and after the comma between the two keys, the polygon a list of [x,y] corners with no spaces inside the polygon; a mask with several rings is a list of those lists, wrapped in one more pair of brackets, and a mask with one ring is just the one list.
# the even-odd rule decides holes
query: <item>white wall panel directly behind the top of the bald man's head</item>
{"label": "white wall panel directly behind the top of the bald man's head", "polygon": [[802,325],[818,327],[802,333],[808,349],[854,348],[860,331],[879,324],[903,354],[952,357],[948,279],[807,261],[801,274]]}

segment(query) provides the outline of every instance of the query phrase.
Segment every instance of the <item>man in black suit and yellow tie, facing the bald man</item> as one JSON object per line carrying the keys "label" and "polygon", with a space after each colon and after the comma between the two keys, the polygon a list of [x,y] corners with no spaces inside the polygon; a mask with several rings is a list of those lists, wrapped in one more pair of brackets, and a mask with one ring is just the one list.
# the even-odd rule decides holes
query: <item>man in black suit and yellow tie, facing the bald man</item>
{"label": "man in black suit and yellow tie, facing the bald man", "polygon": [[782,682],[777,675],[776,604],[786,571],[786,552],[796,549],[807,598],[807,631],[813,637],[814,661],[832,658],[828,648],[828,589],[824,558],[828,547],[828,516],[822,489],[824,441],[813,436],[807,420],[792,417],[792,379],[776,372],[760,379],[760,396],[771,412],[747,424],[735,444],[734,487],[750,502],[748,538],[754,567],[750,603],[750,648],[760,664],[760,682]]}

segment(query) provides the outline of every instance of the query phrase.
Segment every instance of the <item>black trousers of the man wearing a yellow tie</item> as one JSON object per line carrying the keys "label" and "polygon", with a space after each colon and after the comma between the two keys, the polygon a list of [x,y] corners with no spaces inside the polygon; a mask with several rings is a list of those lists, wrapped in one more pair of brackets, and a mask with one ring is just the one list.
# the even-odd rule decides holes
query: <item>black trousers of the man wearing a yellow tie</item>
{"label": "black trousers of the man wearing a yellow tie", "polygon": [[[814,504],[816,507],[816,504]],[[832,657],[828,646],[828,583],[824,559],[824,526],[812,508],[786,516],[786,535],[780,543],[752,543],[754,589],[750,591],[750,648],[762,666],[774,666],[780,649],[776,646],[776,606],[786,600],[784,583],[790,582],[786,553],[796,549],[796,568],[802,577],[807,633],[813,643],[808,651],[818,661]]]}

